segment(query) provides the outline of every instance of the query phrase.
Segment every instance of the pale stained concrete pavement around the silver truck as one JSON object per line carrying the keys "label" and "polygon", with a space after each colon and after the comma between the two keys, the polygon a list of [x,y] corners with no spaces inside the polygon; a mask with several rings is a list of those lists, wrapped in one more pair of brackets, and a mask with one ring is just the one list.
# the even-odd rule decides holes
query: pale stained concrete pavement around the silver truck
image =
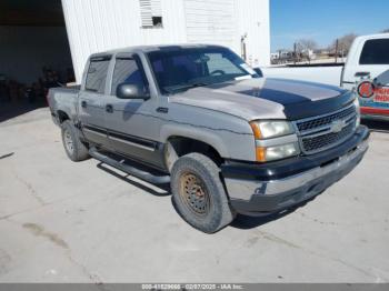
{"label": "pale stained concrete pavement around the silver truck", "polygon": [[346,179],[209,235],[169,190],[73,163],[48,109],[0,123],[0,282],[389,282],[389,126]]}

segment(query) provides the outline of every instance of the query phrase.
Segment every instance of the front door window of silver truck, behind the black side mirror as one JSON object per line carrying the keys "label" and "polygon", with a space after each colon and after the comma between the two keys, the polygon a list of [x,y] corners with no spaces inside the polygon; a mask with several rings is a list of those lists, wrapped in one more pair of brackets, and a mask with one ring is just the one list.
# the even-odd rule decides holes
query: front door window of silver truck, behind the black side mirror
{"label": "front door window of silver truck, behind the black side mirror", "polygon": [[138,60],[117,59],[112,77],[112,94],[116,94],[117,88],[120,83],[139,84],[147,90],[148,83]]}

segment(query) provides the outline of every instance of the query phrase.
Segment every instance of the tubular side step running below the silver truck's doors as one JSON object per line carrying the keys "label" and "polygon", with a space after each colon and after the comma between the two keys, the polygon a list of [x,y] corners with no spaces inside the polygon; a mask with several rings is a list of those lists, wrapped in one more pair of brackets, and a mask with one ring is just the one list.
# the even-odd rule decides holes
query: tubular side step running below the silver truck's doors
{"label": "tubular side step running below the silver truck's doors", "polygon": [[152,184],[167,184],[167,183],[170,183],[170,175],[154,175],[154,174],[152,174],[152,173],[150,173],[148,171],[142,171],[142,170],[137,169],[137,168],[134,168],[132,165],[129,165],[129,164],[126,164],[126,163],[123,163],[121,161],[112,159],[112,158],[110,158],[110,157],[108,157],[108,155],[97,151],[96,148],[91,148],[89,150],[89,154],[92,158],[94,158],[94,159],[97,159],[97,160],[99,160],[99,161],[101,161],[103,163],[107,163],[107,164],[109,164],[109,165],[111,165],[113,168],[117,168],[117,169],[119,169],[119,170],[121,170],[121,171],[123,171],[123,172],[126,172],[128,174],[137,177],[137,178],[139,178],[141,180],[144,180],[144,181],[149,182],[149,183],[152,183]]}

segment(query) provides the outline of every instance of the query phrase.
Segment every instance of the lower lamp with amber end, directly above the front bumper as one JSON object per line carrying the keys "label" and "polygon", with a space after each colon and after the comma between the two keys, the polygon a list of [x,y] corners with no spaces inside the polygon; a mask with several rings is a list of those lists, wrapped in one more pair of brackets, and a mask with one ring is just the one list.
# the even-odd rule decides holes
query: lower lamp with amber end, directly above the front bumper
{"label": "lower lamp with amber end, directly above the front bumper", "polygon": [[285,158],[297,155],[299,153],[300,148],[297,142],[268,148],[258,147],[256,152],[257,161],[259,162],[281,160]]}

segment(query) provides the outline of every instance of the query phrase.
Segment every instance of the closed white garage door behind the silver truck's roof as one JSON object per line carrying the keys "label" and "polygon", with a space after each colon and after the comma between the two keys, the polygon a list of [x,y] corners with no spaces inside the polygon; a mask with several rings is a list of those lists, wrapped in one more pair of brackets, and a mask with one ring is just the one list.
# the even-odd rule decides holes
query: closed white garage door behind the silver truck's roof
{"label": "closed white garage door behind the silver truck's roof", "polygon": [[[233,48],[233,0],[184,0],[188,42]],[[238,40],[239,41],[239,40]]]}

